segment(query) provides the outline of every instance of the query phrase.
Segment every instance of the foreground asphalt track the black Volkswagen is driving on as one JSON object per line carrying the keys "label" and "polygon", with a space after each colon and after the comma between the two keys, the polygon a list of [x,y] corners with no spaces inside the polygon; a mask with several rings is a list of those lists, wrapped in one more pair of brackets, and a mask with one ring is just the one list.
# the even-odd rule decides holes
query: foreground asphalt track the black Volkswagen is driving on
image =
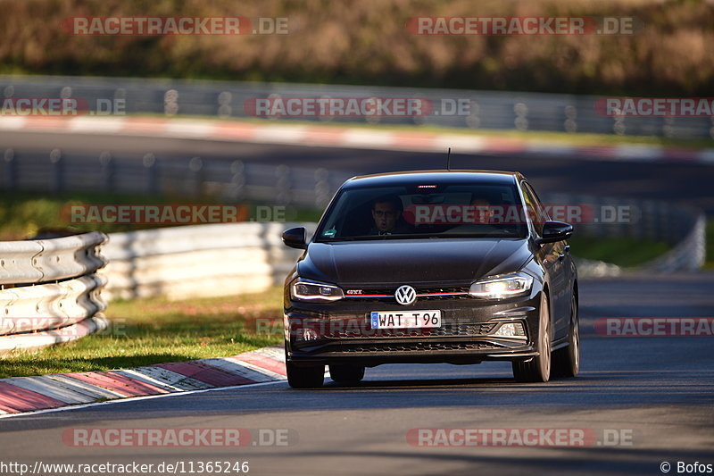
{"label": "foreground asphalt track the black Volkswagen is driving on", "polygon": [[[712,338],[607,338],[594,333],[594,320],[713,316],[712,289],[711,273],[584,280],[576,379],[520,384],[508,363],[402,364],[368,369],[352,388],[326,379],[315,390],[280,382],[129,400],[0,420],[2,460],[185,468],[248,461],[249,473],[261,475],[662,474],[660,464],[668,462],[677,473],[678,462],[714,463]],[[288,445],[279,447],[63,443],[62,432],[77,428],[289,431]],[[421,428],[583,429],[596,440],[588,447],[414,446],[408,431]],[[627,444],[616,445],[612,435]]]}

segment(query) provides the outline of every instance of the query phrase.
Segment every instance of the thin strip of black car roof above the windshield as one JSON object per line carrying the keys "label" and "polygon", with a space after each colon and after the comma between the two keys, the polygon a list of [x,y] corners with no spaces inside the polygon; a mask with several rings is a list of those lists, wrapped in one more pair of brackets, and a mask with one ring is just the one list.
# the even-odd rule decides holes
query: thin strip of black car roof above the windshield
{"label": "thin strip of black car roof above the windshield", "polygon": [[484,185],[513,184],[523,180],[523,175],[517,171],[395,171],[376,173],[372,175],[359,175],[345,181],[342,188],[362,188],[376,186],[399,186],[413,184],[415,181],[443,183],[482,183]]}

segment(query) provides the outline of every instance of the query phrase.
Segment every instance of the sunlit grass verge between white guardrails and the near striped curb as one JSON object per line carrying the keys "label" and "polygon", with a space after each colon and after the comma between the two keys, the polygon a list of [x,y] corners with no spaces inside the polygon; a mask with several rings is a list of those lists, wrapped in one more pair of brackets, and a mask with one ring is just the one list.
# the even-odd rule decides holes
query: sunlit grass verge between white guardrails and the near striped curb
{"label": "sunlit grass verge between white guardrails and the near striped curb", "polygon": [[0,378],[237,355],[282,342],[282,313],[282,287],[190,301],[112,301],[105,313],[107,330],[34,353],[0,357]]}

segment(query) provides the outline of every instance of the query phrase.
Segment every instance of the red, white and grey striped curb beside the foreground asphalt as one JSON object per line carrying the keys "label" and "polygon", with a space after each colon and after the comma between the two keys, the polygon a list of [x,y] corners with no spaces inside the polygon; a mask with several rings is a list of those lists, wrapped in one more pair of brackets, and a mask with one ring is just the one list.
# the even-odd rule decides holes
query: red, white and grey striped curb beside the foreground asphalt
{"label": "red, white and grey striped curb beside the foreground asphalt", "polygon": [[286,380],[283,347],[233,357],[156,363],[115,371],[57,373],[0,380],[0,417],[127,397]]}

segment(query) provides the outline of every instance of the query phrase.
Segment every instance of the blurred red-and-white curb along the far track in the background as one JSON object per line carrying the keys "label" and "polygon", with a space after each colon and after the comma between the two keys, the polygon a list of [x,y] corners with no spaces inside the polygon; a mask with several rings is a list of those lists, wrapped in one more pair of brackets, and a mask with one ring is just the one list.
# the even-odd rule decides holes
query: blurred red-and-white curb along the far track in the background
{"label": "blurred red-and-white curb along the far track in the background", "polygon": [[409,130],[379,130],[304,124],[152,117],[12,116],[0,119],[0,130],[62,132],[129,137],[211,139],[293,146],[328,146],[455,154],[534,154],[563,158],[625,162],[714,163],[714,148],[689,149],[656,145],[572,146],[544,140],[485,137]]}

